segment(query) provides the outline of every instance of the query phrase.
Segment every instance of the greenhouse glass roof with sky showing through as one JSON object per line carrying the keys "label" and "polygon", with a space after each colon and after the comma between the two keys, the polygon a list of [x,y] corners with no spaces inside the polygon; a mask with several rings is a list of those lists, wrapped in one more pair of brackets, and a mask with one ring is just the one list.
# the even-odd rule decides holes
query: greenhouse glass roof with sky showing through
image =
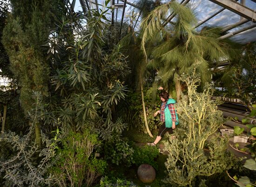
{"label": "greenhouse glass roof with sky showing through", "polygon": [[[68,0],[67,0],[68,1]],[[204,26],[220,26],[227,32],[226,38],[233,39],[242,44],[256,41],[256,0],[176,0],[189,6],[198,20],[197,30]],[[137,0],[110,0],[108,6],[115,6],[114,16],[109,11],[107,18],[115,24],[121,22],[124,11],[123,22],[129,21],[129,15],[135,11]],[[166,1],[161,1],[162,3]],[[85,11],[87,8],[100,8],[103,0],[70,0],[74,4],[74,12]],[[96,5],[99,4],[99,5]],[[124,8],[124,4],[126,5]],[[242,16],[241,16],[242,15]],[[174,18],[175,19],[175,18]],[[139,17],[136,27],[139,26]],[[135,30],[136,30],[135,27]]]}

